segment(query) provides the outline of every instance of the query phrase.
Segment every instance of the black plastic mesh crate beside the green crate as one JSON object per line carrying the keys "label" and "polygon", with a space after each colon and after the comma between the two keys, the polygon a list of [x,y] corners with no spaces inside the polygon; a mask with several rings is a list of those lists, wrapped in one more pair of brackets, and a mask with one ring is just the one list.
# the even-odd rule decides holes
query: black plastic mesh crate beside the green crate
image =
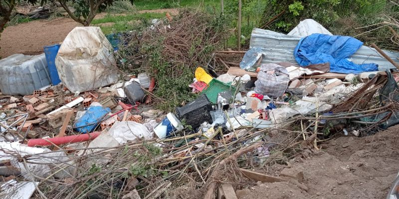
{"label": "black plastic mesh crate beside the green crate", "polygon": [[177,107],[176,112],[179,119],[185,120],[193,128],[200,126],[204,121],[211,121],[209,111],[212,110],[212,104],[205,95],[201,95],[196,100],[190,101],[182,107]]}

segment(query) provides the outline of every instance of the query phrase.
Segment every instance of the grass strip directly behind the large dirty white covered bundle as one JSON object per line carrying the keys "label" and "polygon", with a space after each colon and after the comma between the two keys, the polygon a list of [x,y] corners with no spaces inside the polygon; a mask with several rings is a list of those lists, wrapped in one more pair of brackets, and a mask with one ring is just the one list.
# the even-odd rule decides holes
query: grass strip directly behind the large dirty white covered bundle
{"label": "grass strip directly behind the large dirty white covered bundle", "polygon": [[[142,13],[142,14],[130,14],[130,15],[113,15],[107,14],[103,18],[93,19],[91,25],[99,26],[104,34],[110,34],[115,32],[133,30],[139,21],[149,21],[154,18],[164,18],[165,13]],[[113,22],[112,26],[102,26],[102,23]]]}

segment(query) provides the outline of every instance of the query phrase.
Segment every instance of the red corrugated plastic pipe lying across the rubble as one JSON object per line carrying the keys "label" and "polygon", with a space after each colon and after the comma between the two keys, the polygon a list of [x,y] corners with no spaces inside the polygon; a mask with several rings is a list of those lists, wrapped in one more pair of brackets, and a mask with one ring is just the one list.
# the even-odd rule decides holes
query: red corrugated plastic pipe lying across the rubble
{"label": "red corrugated plastic pipe lying across the rubble", "polygon": [[[64,137],[54,137],[54,138],[47,138],[47,139],[30,139],[28,140],[28,146],[51,146],[52,143],[55,145],[60,144],[67,144],[67,143],[76,143],[76,142],[84,142],[88,140],[93,140],[94,138],[98,137],[101,132],[93,132],[93,133],[86,133],[80,135],[70,135]],[[48,142],[48,141],[50,142]]]}

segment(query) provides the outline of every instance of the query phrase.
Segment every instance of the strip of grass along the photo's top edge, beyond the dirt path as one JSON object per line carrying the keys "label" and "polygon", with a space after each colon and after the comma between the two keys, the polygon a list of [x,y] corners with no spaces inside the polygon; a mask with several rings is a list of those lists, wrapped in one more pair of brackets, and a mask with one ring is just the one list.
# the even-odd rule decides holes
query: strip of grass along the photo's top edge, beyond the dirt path
{"label": "strip of grass along the photo's top edge, beyond the dirt path", "polygon": [[197,6],[200,3],[204,5],[220,6],[220,0],[135,0],[134,4],[139,10],[143,9],[162,9],[174,8],[179,6]]}

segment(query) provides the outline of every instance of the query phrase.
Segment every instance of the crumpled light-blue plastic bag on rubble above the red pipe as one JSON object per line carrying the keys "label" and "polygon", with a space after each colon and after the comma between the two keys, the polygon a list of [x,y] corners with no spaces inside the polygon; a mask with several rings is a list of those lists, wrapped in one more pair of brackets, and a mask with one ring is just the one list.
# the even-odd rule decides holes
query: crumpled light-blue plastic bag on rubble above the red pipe
{"label": "crumpled light-blue plastic bag on rubble above the red pipe", "polygon": [[77,131],[88,133],[93,131],[97,124],[104,118],[104,115],[111,112],[110,108],[102,106],[90,106],[82,117],[75,124]]}

